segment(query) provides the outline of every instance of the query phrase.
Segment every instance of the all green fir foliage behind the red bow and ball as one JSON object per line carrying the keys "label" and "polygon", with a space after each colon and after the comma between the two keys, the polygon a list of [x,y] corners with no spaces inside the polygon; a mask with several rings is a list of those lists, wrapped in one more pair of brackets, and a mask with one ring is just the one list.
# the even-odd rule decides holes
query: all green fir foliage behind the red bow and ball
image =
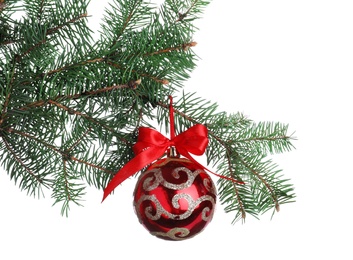
{"label": "all green fir foliage behind the red bow and ball", "polygon": [[[268,155],[290,151],[287,126],[254,123],[180,89],[195,67],[193,22],[207,1],[112,0],[98,40],[87,0],[0,0],[0,160],[21,190],[52,190],[67,214],[86,185],[103,189],[133,158],[140,126],[209,129],[208,163],[234,220],[292,202],[293,186]],[[166,127],[168,129],[168,127]]]}

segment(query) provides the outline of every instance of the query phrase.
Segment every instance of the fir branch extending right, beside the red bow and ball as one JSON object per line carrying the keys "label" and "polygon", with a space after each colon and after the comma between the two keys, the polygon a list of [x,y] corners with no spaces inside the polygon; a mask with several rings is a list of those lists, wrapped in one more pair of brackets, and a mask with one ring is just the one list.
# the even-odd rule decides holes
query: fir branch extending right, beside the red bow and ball
{"label": "fir branch extending right, beside the red bow and ball", "polygon": [[[199,103],[199,100],[196,98],[194,100],[190,100],[191,96],[186,96],[185,100],[183,101],[183,103],[180,105],[184,111],[180,111],[178,108],[174,107],[174,113],[178,116],[180,116],[181,118],[184,118],[185,120],[193,123],[193,124],[198,124],[198,123],[202,123],[200,121],[200,118],[203,120],[206,120],[206,118],[208,117],[215,117],[214,114],[209,113],[207,116],[205,115],[207,110],[210,110],[210,108],[212,108],[212,106],[209,107],[204,107],[203,105],[197,105],[197,103]],[[192,101],[196,102],[195,104],[192,103]],[[191,116],[191,114],[193,114],[193,112],[191,114],[188,113],[188,108],[184,106],[185,102],[187,102],[188,107],[190,107],[190,109],[192,109],[195,106],[198,106],[198,114],[194,114],[194,116]],[[164,103],[164,102],[157,102],[157,104],[162,107],[163,109],[165,109],[165,111],[168,111],[169,105]],[[202,111],[205,110],[205,111]],[[193,110],[191,110],[193,111]],[[211,110],[213,111],[213,110]],[[190,111],[189,111],[190,112]],[[196,116],[196,117],[195,117]],[[221,118],[223,117],[223,115],[221,116]],[[185,123],[182,123],[183,125],[185,125]],[[212,123],[211,123],[212,124]],[[218,129],[221,129],[222,127],[225,128],[229,128],[229,129],[233,129],[231,128],[231,125],[229,125],[229,123],[225,122],[223,123],[223,126],[218,126]],[[214,128],[214,126],[212,126],[212,128]],[[264,129],[266,131],[264,131]],[[251,130],[251,131],[250,131]],[[284,142],[289,142],[289,140],[291,139],[290,136],[287,136],[285,134],[285,131],[287,130],[286,127],[282,127],[280,125],[275,125],[274,128],[269,127],[265,124],[259,124],[259,126],[251,126],[251,124],[249,124],[247,127],[242,128],[242,131],[238,133],[238,136],[243,137],[243,136],[247,136],[249,135],[249,133],[252,134],[251,137],[249,138],[236,138],[234,137],[234,134],[232,135],[232,137],[227,137],[227,135],[225,135],[225,132],[220,130],[219,133],[222,134],[218,135],[215,132],[211,131],[209,129],[208,133],[209,136],[211,138],[211,140],[214,140],[217,142],[216,144],[212,143],[212,148],[210,149],[216,149],[215,151],[213,151],[213,153],[216,153],[218,156],[214,157],[213,159],[221,160],[222,161],[222,167],[226,167],[226,175],[231,176],[234,179],[240,179],[239,178],[239,174],[236,174],[233,171],[233,167],[234,165],[236,165],[237,167],[240,167],[242,169],[246,169],[246,173],[242,173],[245,174],[245,176],[248,177],[248,181],[245,181],[245,187],[241,187],[236,185],[235,183],[232,183],[231,185],[227,184],[226,187],[228,188],[224,188],[222,190],[223,193],[225,193],[224,195],[222,195],[221,197],[224,198],[226,201],[233,201],[233,205],[229,208],[230,210],[234,210],[234,203],[235,201],[238,204],[237,207],[237,216],[240,214],[240,217],[244,220],[246,217],[246,212],[251,213],[252,215],[256,216],[258,213],[261,213],[262,211],[267,211],[267,209],[270,207],[269,202],[267,201],[267,197],[266,195],[264,195],[264,193],[266,193],[264,190],[262,190],[262,186],[265,187],[265,189],[268,191],[268,194],[270,196],[270,198],[272,199],[274,208],[276,211],[279,211],[280,209],[280,201],[279,201],[279,196],[283,196],[285,198],[285,200],[288,200],[290,198],[293,197],[293,195],[287,195],[287,191],[291,191],[290,188],[286,188],[286,186],[279,186],[277,187],[277,185],[280,185],[280,183],[282,183],[283,181],[281,180],[277,180],[278,177],[275,176],[276,172],[272,172],[272,168],[273,166],[271,166],[271,168],[267,168],[264,167],[265,165],[267,165],[267,163],[265,163],[262,166],[262,163],[259,162],[257,159],[253,162],[253,163],[248,163],[247,160],[245,160],[245,158],[243,158],[243,155],[241,155],[241,153],[239,153],[237,151],[237,149],[245,149],[244,147],[237,147],[237,144],[239,143],[244,143],[244,142],[250,142],[253,147],[247,147],[245,150],[247,149],[252,149],[253,153],[257,153],[258,151],[255,149],[254,147],[256,147],[258,145],[258,143],[261,143],[263,141],[266,142],[277,142],[279,140],[283,140]],[[217,130],[218,131],[218,130]],[[234,131],[234,130],[233,130]],[[231,132],[230,132],[231,133]],[[230,138],[230,139],[228,139]],[[218,145],[220,145],[222,147],[222,151],[219,148],[216,148]],[[280,152],[282,151],[282,149],[280,149],[280,146],[284,146],[286,147],[288,150],[291,147],[290,145],[287,144],[281,144],[279,143],[277,145],[278,147],[275,148],[275,151]],[[272,147],[272,146],[270,146]],[[276,146],[274,146],[276,147]],[[240,150],[242,151],[242,150]],[[225,156],[222,156],[222,155]],[[250,156],[250,158],[253,158],[253,155],[247,153],[247,156]],[[212,157],[212,156],[211,156]],[[235,160],[237,162],[235,162]],[[240,166],[240,165],[242,166]],[[245,167],[245,168],[244,168]],[[257,170],[256,168],[259,167],[260,170]],[[265,175],[262,175],[261,172],[264,172]],[[249,175],[250,174],[250,175]],[[251,177],[251,175],[253,177]],[[223,181],[225,182],[225,181]],[[272,183],[273,182],[273,183]],[[261,185],[259,184],[261,183]],[[223,184],[224,185],[224,184]],[[230,192],[230,186],[232,187],[233,191],[231,191],[231,193],[234,195],[234,198],[229,197],[229,192]],[[248,188],[246,188],[248,186]],[[287,185],[288,186],[288,185]],[[280,187],[283,188],[283,192],[282,193],[278,193],[280,192]],[[288,186],[289,187],[289,186]],[[240,192],[239,189],[242,189],[242,191]],[[251,188],[251,190],[249,190],[249,188]],[[255,190],[254,190],[255,189]],[[254,194],[250,194],[250,192],[255,192]],[[248,195],[251,195],[252,197],[249,197]],[[262,198],[258,198],[256,196],[258,196],[258,194],[262,194]],[[282,194],[282,195],[281,195]],[[247,197],[248,196],[248,197]],[[246,199],[246,201],[244,201],[244,199]],[[245,204],[246,202],[246,204]],[[254,206],[257,205],[258,206]],[[249,208],[248,208],[249,207]]]}

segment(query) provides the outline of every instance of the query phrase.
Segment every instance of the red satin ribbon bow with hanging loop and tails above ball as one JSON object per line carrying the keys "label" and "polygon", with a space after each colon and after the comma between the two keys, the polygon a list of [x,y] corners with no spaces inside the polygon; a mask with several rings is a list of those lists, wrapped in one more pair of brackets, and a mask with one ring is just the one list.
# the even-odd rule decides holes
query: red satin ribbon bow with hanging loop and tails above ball
{"label": "red satin ribbon bow with hanging loop and tails above ball", "polygon": [[[152,128],[140,127],[137,142],[132,148],[136,156],[131,159],[127,164],[125,164],[123,168],[121,168],[115,174],[113,179],[108,183],[107,187],[104,189],[102,202],[119,184],[121,184],[124,180],[134,175],[136,172],[140,171],[153,161],[162,157],[165,151],[172,146],[174,146],[182,156],[188,158],[192,162],[198,164],[201,168],[205,169],[205,167],[199,164],[190,155],[190,153],[194,155],[202,155],[205,152],[206,147],[208,145],[207,128],[204,125],[196,124],[191,128],[187,129],[185,132],[182,132],[179,135],[175,136],[172,97],[169,98],[171,138],[166,138],[164,135]],[[211,173],[220,178],[229,179],[233,182],[242,184],[242,182],[239,182],[232,178],[218,175],[214,172]]]}

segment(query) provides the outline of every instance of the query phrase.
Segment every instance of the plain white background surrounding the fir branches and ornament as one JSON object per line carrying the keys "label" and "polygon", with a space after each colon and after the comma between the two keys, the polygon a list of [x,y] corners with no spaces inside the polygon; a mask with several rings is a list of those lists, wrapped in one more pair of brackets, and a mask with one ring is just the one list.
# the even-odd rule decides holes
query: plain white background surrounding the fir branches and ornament
{"label": "plain white background surrounding the fir branches and ornament", "polygon": [[[92,0],[92,26],[106,1]],[[296,150],[274,160],[297,202],[270,220],[231,224],[220,204],[198,236],[169,242],[148,234],[132,208],[136,179],[103,204],[89,189],[84,207],[61,217],[50,196],[33,199],[0,174],[0,259],[353,259],[351,1],[214,0],[198,22],[200,56],[185,91],[288,123]]]}

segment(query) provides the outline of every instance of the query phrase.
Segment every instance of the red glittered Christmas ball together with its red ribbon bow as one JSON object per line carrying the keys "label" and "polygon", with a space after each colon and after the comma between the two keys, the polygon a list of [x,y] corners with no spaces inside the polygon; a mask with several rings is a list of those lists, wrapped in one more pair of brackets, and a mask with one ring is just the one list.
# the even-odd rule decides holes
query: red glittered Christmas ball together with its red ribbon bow
{"label": "red glittered Christmas ball together with its red ribbon bow", "polygon": [[[206,168],[190,155],[202,155],[205,152],[208,145],[207,128],[196,124],[175,136],[173,100],[169,98],[170,139],[154,129],[140,127],[137,142],[133,146],[136,156],[108,183],[103,201],[124,180],[149,166],[135,188],[136,214],[153,235],[182,240],[195,236],[211,221],[216,190],[205,172]],[[168,157],[160,159],[166,151],[169,151]],[[180,155],[183,158],[179,158]]]}

